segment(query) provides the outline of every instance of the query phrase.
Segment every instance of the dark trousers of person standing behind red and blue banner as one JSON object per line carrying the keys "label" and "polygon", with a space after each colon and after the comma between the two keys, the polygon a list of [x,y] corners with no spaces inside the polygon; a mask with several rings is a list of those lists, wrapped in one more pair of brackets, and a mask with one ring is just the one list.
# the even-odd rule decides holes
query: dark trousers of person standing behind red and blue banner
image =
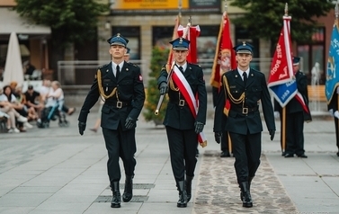
{"label": "dark trousers of person standing behind red and blue banner", "polygon": [[300,156],[304,150],[304,114],[302,111],[286,115],[286,153]]}

